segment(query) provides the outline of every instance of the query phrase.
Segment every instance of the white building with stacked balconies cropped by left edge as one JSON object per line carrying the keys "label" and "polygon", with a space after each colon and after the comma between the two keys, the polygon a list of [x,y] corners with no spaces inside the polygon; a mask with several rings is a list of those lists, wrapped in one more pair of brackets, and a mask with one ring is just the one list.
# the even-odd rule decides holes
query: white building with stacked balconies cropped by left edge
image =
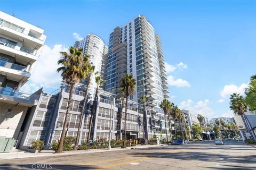
{"label": "white building with stacked balconies cropped by left edge", "polygon": [[[20,92],[33,71],[44,30],[0,11],[0,136],[17,139],[28,107],[38,95]],[[47,68],[47,66],[45,66]]]}

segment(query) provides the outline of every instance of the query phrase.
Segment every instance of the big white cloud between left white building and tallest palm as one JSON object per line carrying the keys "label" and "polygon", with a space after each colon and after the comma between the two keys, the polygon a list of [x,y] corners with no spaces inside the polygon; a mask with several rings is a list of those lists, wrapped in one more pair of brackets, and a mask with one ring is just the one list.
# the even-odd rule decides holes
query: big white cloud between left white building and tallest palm
{"label": "big white cloud between left white building and tallest palm", "polygon": [[55,45],[52,49],[44,45],[42,54],[38,58],[34,71],[31,74],[30,80],[21,88],[22,91],[34,92],[41,87],[44,88],[59,88],[61,83],[60,73],[57,73],[57,62],[60,58],[60,53],[67,51],[68,48],[62,45]]}

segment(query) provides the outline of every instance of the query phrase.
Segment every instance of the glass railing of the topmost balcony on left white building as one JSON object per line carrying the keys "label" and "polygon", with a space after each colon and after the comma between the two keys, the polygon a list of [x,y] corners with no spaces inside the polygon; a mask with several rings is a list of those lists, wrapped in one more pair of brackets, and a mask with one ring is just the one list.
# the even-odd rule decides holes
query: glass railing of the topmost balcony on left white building
{"label": "glass railing of the topmost balcony on left white building", "polygon": [[6,28],[10,28],[14,31],[23,33],[24,35],[27,35],[29,37],[33,37],[35,39],[41,40],[41,41],[44,41],[44,39],[45,39],[45,37],[42,37],[41,35],[37,35],[36,33],[27,31],[27,30],[25,30],[25,28],[19,27],[18,25],[15,25],[11,22],[8,22],[8,21],[2,20],[2,19],[0,19],[0,25],[4,26]]}

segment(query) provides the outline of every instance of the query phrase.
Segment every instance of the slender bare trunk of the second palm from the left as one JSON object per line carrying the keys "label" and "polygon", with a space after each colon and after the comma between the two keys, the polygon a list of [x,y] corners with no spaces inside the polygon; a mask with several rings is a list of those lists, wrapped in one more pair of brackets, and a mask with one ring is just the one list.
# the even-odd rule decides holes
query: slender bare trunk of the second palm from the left
{"label": "slender bare trunk of the second palm from the left", "polygon": [[89,92],[90,83],[91,83],[91,75],[89,76],[88,84],[86,86],[86,90],[85,90],[85,94],[84,94],[83,106],[82,106],[81,114],[80,114],[81,118],[79,120],[78,130],[77,130],[77,134],[76,134],[75,149],[77,149],[78,142],[79,142],[79,137],[80,137],[80,133],[81,133],[81,125],[82,125],[82,121],[83,121],[83,117],[84,117],[84,110],[86,107],[86,100],[87,100],[87,96],[88,96],[88,92]]}

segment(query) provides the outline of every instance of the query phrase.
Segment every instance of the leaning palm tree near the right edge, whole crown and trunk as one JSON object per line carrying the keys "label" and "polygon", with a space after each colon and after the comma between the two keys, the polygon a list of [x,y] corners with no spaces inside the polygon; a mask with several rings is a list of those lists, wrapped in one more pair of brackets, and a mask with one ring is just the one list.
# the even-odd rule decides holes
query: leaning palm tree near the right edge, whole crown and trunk
{"label": "leaning palm tree near the right edge, whole crown and trunk", "polygon": [[[250,133],[251,138],[253,139],[254,135],[253,135],[253,133],[251,132],[250,128],[247,125],[247,122],[249,122],[247,120],[247,116],[245,114],[246,109],[247,109],[247,105],[245,104],[243,96],[241,96],[240,94],[234,93],[230,96],[229,99],[230,99],[229,108],[231,110],[233,110],[235,114],[241,115],[242,120],[243,120],[244,125],[245,125],[245,128]],[[250,122],[249,122],[249,124],[250,124]]]}

